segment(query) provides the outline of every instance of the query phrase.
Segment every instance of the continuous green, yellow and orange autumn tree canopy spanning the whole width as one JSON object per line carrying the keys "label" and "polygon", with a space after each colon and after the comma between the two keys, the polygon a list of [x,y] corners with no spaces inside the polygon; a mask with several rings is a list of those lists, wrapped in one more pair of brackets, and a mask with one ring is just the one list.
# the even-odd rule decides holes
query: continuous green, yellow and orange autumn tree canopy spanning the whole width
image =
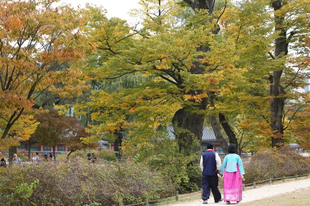
{"label": "continuous green, yellow and orange autumn tree canopy spanning the whole width", "polygon": [[35,131],[42,94],[85,89],[57,108],[76,102],[89,133],[132,153],[169,124],[184,154],[199,154],[207,124],[224,151],[295,141],[293,122],[308,103],[309,0],[144,0],[135,27],[100,7],[55,2],[1,3],[6,145]]}

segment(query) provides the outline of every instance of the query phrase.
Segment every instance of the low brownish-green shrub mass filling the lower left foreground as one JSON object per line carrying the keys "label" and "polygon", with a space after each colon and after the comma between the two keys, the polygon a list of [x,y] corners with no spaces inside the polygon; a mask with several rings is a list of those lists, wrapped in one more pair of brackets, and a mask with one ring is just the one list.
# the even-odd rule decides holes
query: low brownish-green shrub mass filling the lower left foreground
{"label": "low brownish-green shrub mass filling the lower left foreground", "polygon": [[77,165],[11,165],[0,176],[0,201],[12,205],[134,204],[175,191],[161,173],[131,163],[98,165],[80,159]]}

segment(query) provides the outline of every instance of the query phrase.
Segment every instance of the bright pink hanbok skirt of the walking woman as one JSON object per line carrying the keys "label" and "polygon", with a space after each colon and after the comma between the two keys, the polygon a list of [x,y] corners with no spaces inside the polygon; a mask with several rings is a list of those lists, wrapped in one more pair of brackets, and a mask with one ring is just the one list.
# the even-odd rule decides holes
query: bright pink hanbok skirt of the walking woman
{"label": "bright pink hanbok skirt of the walking woman", "polygon": [[237,165],[236,172],[224,172],[224,201],[239,202],[242,200],[242,178]]}

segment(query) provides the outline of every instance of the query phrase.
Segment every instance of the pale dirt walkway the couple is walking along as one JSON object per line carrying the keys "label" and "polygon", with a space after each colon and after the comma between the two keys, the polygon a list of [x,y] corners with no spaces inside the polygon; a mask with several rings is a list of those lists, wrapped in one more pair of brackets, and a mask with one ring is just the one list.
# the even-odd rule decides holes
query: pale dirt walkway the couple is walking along
{"label": "pale dirt walkway the couple is walking along", "polygon": [[[287,181],[283,183],[274,183],[272,185],[258,186],[255,189],[245,188],[245,191],[243,191],[242,194],[243,200],[238,205],[242,205],[242,203],[251,202],[276,195],[291,193],[293,191],[306,188],[310,188],[310,178],[300,179],[296,181]],[[209,199],[208,203],[213,205],[226,205],[226,203],[224,202],[220,202],[217,204],[214,203],[212,197]],[[171,204],[169,206],[196,206],[196,205],[202,205],[202,201],[200,199],[197,199],[188,202]]]}

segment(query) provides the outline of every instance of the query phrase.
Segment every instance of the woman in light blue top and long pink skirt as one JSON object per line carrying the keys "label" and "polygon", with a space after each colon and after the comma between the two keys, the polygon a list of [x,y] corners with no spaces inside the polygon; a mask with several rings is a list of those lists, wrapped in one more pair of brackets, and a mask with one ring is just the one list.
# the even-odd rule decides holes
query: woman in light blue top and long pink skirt
{"label": "woman in light blue top and long pink skirt", "polygon": [[240,202],[242,200],[242,180],[244,180],[243,163],[236,154],[236,145],[230,144],[228,153],[223,161],[220,173],[224,174],[224,201],[227,204]]}

